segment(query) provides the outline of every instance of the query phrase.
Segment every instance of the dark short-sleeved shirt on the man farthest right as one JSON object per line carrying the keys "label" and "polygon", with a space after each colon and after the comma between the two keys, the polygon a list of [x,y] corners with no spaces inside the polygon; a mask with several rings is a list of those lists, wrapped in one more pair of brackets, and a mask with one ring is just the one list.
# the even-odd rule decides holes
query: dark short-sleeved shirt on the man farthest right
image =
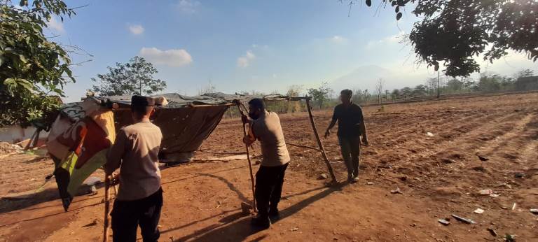
{"label": "dark short-sleeved shirt on the man farthest right", "polygon": [[362,109],[357,104],[338,104],[334,108],[333,120],[338,120],[338,136],[357,137],[361,135],[359,124],[364,122]]}

